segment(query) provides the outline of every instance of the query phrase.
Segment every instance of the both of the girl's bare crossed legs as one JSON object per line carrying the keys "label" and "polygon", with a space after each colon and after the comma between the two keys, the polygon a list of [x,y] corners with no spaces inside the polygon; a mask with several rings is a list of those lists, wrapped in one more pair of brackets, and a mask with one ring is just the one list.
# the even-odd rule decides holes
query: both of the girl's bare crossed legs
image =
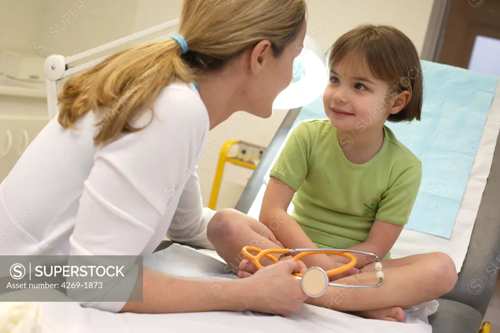
{"label": "both of the girl's bare crossed legs", "polygon": [[[241,247],[251,245],[265,249],[275,248],[277,245],[265,236],[268,231],[255,219],[234,210],[221,210],[217,214],[208,223],[208,239],[234,272],[241,267],[238,276],[248,276],[255,268],[248,260],[243,260]],[[258,223],[262,225],[260,233]],[[394,307],[406,308],[435,299],[449,292],[456,283],[454,263],[444,253],[417,254],[381,261],[384,273],[381,286],[370,289],[330,287],[321,297],[309,298],[306,302],[333,310],[356,312],[355,314],[368,318],[398,317],[400,313],[391,313]],[[261,263],[267,265],[271,261],[261,260]],[[337,279],[335,283],[376,284],[378,279],[373,265],[363,267],[358,274]]]}

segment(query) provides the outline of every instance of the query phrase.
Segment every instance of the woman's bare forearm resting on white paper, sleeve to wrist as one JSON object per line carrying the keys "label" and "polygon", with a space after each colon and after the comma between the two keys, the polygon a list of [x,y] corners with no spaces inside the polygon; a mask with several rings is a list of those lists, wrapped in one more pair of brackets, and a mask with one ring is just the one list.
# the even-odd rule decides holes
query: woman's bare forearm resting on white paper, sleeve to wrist
{"label": "woman's bare forearm resting on white paper, sleeve to wrist", "polygon": [[143,267],[143,279],[139,283],[142,287],[142,301],[127,302],[121,311],[244,311],[252,307],[252,297],[248,292],[251,288],[244,287],[244,283],[244,279],[184,279]]}

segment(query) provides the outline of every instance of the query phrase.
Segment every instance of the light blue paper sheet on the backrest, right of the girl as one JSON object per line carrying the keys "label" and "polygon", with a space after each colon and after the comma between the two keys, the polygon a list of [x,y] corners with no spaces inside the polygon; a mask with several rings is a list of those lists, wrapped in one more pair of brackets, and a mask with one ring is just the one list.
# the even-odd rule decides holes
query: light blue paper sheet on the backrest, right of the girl
{"label": "light blue paper sheet on the backrest, right of the girl", "polygon": [[[421,120],[387,122],[387,126],[423,165],[406,228],[449,238],[486,129],[498,76],[430,61],[422,60],[421,65]],[[495,140],[497,133],[492,132]]]}

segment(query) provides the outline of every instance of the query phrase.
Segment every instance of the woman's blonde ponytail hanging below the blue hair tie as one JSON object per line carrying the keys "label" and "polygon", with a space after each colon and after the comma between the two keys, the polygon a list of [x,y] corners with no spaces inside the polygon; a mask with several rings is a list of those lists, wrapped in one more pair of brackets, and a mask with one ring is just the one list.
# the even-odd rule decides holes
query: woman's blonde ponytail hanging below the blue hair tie
{"label": "woman's blonde ponytail hanging below the blue hair tie", "polygon": [[117,52],[71,77],[58,96],[59,123],[75,128],[74,123],[86,112],[99,112],[95,144],[110,141],[121,132],[140,130],[130,126],[130,120],[152,107],[162,88],[174,80],[187,83],[194,79],[194,71],[181,53],[173,39],[151,42]]}

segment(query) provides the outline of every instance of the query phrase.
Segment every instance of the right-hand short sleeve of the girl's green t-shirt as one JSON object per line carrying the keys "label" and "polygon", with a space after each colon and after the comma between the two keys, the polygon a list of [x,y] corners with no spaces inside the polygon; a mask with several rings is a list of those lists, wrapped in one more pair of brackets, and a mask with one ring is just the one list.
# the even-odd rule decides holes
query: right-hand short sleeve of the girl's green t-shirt
{"label": "right-hand short sleeve of the girl's green t-shirt", "polygon": [[406,166],[382,195],[375,219],[405,225],[408,222],[422,178],[420,161]]}

